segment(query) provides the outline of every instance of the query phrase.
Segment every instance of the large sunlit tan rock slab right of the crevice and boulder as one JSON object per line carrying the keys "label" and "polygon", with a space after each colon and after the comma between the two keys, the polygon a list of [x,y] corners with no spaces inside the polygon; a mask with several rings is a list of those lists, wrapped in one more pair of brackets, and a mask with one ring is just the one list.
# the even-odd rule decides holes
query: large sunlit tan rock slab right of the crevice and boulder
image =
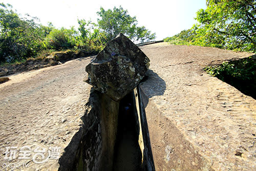
{"label": "large sunlit tan rock slab right of the crevice and boulder", "polygon": [[163,43],[141,49],[151,60],[140,88],[156,170],[256,170],[256,100],[203,71],[252,54]]}

